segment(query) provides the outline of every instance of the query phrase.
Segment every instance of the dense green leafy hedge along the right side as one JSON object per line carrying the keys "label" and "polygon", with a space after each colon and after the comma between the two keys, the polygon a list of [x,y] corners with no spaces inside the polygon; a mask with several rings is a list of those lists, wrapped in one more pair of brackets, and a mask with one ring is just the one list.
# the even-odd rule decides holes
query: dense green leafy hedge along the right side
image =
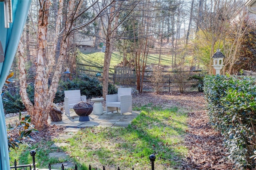
{"label": "dense green leafy hedge along the right side", "polygon": [[256,86],[248,76],[206,76],[204,94],[210,122],[224,136],[228,158],[239,169],[255,168]]}

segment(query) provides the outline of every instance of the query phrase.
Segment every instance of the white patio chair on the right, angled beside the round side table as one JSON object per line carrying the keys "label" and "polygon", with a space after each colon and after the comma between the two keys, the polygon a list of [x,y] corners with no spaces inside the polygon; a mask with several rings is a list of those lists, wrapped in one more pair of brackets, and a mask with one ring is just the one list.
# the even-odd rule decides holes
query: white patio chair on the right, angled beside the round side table
{"label": "white patio chair on the right, angled beside the round side table", "polygon": [[118,88],[117,94],[106,95],[107,114],[110,111],[117,111],[120,114],[132,112],[132,88]]}

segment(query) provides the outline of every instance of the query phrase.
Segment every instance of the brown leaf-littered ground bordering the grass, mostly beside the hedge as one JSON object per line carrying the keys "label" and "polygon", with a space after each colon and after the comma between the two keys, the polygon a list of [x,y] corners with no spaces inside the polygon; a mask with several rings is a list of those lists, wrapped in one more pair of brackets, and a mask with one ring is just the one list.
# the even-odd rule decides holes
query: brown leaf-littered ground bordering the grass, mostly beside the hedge
{"label": "brown leaf-littered ground bordering the grass, mostly beside the hedge", "polygon": [[[88,101],[90,102],[90,101]],[[203,93],[172,93],[133,94],[133,107],[144,106],[148,103],[162,107],[176,106],[188,113],[188,130],[184,144],[188,148],[188,155],[180,163],[182,170],[235,170],[234,164],[225,159],[226,149],[219,132],[212,129],[208,123],[208,116]],[[105,108],[105,103],[103,102]],[[6,122],[14,118],[7,118]],[[33,138],[36,141],[49,140],[62,133],[64,127],[53,126],[40,132]]]}

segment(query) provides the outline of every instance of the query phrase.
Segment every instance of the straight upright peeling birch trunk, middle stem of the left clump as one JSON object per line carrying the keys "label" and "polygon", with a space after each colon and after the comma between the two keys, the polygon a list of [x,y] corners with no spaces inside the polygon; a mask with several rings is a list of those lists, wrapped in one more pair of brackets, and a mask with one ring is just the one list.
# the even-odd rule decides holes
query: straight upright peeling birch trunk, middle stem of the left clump
{"label": "straight upright peeling birch trunk, middle stem of the left clump", "polygon": [[29,113],[31,121],[36,129],[42,130],[47,125],[48,111],[50,106],[45,105],[46,94],[48,93],[48,78],[46,77],[45,59],[47,46],[47,25],[50,0],[40,2],[38,19],[38,49],[36,61],[35,91],[34,91],[34,111]]}

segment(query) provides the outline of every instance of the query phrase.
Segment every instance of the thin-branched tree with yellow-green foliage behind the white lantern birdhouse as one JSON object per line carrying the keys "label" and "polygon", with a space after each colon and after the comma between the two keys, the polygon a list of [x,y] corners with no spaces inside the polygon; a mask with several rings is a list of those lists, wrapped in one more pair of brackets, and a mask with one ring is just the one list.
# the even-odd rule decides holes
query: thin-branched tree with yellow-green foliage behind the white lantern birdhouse
{"label": "thin-branched tree with yellow-green foliage behind the white lantern birdhouse", "polygon": [[[226,42],[226,35],[232,30],[231,22],[236,20],[237,16],[241,14],[241,9],[243,7],[241,1],[233,0],[211,0],[201,2],[199,7],[202,20],[198,21],[198,15],[194,17],[195,21],[197,21],[198,28],[194,47],[196,49],[196,55],[203,61],[206,68],[209,69],[209,73],[212,74],[211,57],[216,52],[216,49],[221,49],[223,45],[228,45],[228,42]],[[239,30],[237,30],[236,40],[240,41],[242,32],[239,33],[238,31]],[[239,48],[239,42],[232,46],[234,48],[227,53],[228,59],[231,60],[232,56],[235,55]]]}

